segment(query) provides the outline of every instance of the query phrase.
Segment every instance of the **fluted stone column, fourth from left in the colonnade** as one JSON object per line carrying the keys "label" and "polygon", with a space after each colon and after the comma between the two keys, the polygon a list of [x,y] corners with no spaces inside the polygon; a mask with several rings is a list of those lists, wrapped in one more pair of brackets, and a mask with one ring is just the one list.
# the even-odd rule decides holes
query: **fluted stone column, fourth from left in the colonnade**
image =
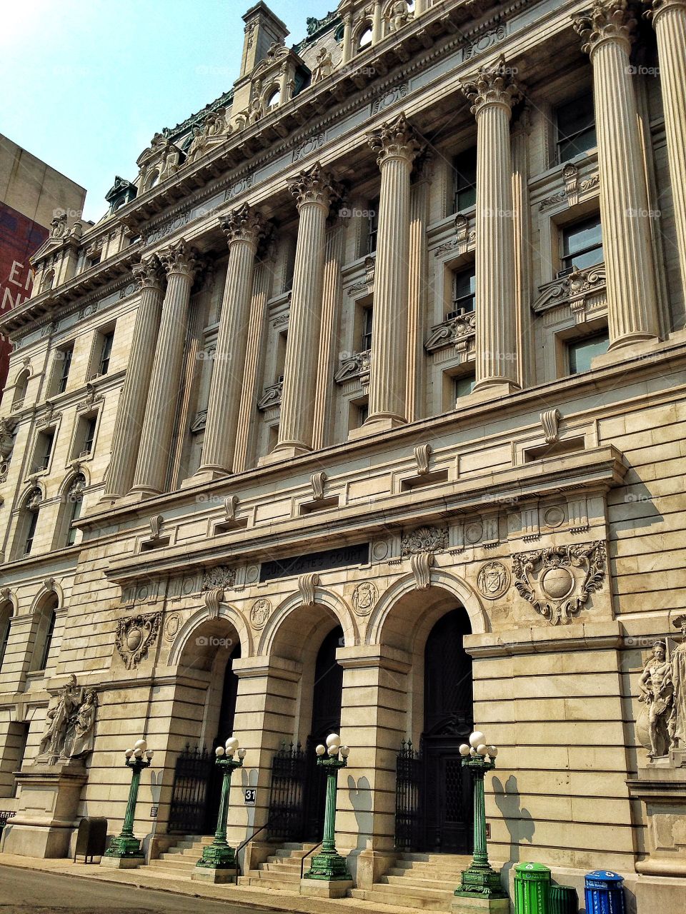
{"label": "fluted stone column, fourth from left in the colonnade", "polygon": [[312,449],[322,313],[327,216],[338,183],[318,163],[289,182],[297,199],[298,237],[288,319],[279,440],[273,454]]}

